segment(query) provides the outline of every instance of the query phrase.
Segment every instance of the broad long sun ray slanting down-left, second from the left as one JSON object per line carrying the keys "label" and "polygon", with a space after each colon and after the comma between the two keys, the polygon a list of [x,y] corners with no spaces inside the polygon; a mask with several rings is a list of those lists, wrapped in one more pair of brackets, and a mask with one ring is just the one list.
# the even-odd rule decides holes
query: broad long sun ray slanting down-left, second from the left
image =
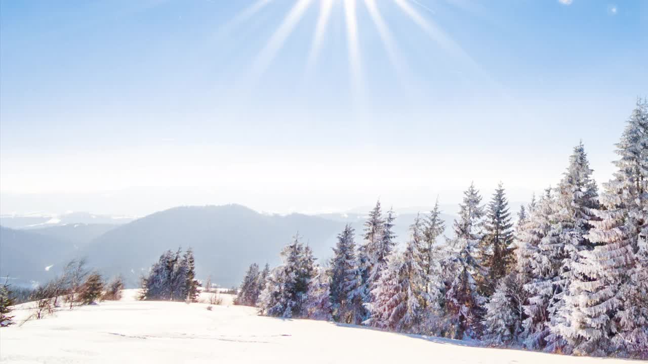
{"label": "broad long sun ray slanting down-left, second from the left", "polygon": [[268,44],[260,51],[257,60],[252,66],[250,76],[252,78],[258,78],[263,74],[272,60],[277,56],[277,52],[283,47],[284,42],[292,33],[292,30],[295,28],[299,20],[304,15],[304,12],[308,9],[308,6],[312,0],[298,0],[294,6],[290,9],[286,17],[284,17],[283,22],[279,25],[279,28],[270,37]]}

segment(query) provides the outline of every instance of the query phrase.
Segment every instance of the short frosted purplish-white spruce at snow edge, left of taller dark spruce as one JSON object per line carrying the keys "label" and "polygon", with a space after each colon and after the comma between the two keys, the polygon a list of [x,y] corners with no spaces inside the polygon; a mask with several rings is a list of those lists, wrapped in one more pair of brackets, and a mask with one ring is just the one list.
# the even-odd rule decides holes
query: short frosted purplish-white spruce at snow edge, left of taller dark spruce
{"label": "short frosted purplish-white spruce at snow edge, left of taller dark spruce", "polygon": [[314,320],[329,321],[333,308],[330,303],[329,272],[320,266],[315,267],[316,275],[308,284],[304,300],[303,317]]}

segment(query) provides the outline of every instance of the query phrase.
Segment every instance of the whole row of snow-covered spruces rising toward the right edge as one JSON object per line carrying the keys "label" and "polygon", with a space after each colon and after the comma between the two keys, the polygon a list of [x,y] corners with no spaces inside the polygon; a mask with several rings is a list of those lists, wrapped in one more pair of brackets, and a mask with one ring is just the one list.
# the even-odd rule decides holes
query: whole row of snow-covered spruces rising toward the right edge
{"label": "whole row of snow-covered spruces rising toward the right edge", "polygon": [[239,304],[264,315],[332,319],[412,334],[575,355],[648,358],[648,104],[638,100],[599,192],[583,143],[564,175],[515,219],[500,183],[484,205],[464,192],[454,237],[438,201],[399,251],[380,201],[362,242],[346,225],[316,264],[297,234],[283,264],[253,264]]}

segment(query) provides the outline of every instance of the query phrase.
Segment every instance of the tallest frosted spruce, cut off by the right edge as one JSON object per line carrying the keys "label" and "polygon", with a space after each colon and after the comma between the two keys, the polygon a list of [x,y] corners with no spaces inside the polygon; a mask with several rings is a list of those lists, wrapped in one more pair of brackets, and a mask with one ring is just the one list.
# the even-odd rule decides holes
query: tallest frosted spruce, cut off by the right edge
{"label": "tallest frosted spruce, cut off by the right edge", "polygon": [[574,352],[648,358],[648,104],[638,100],[616,153],[618,170],[603,184],[601,209],[583,252]]}

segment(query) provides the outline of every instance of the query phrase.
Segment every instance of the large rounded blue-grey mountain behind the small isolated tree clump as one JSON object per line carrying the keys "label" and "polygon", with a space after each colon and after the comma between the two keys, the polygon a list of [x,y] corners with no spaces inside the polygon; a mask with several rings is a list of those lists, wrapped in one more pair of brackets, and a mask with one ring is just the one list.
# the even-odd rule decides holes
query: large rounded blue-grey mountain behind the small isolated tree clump
{"label": "large rounded blue-grey mountain behind the small isolated tree clump", "polygon": [[167,249],[192,247],[198,277],[237,285],[252,262],[279,264],[279,251],[299,231],[316,256],[329,255],[342,222],[291,214],[260,214],[240,205],[176,207],[121,225],[80,251],[104,274],[137,284]]}

